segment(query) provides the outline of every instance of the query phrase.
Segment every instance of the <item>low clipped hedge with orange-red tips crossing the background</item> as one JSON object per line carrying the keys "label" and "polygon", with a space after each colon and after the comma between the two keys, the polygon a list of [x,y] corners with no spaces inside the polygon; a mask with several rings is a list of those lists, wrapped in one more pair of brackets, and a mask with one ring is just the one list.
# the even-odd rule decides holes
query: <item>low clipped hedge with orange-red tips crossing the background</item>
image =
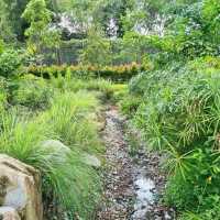
{"label": "low clipped hedge with orange-red tips crossing the background", "polygon": [[136,63],[120,66],[29,66],[26,73],[33,74],[35,76],[41,76],[44,78],[50,78],[51,76],[57,77],[58,75],[65,76],[68,72],[76,77],[101,77],[106,79],[111,79],[113,81],[125,81],[131,79],[133,76],[138,75],[140,72],[146,70],[146,66],[141,66]]}

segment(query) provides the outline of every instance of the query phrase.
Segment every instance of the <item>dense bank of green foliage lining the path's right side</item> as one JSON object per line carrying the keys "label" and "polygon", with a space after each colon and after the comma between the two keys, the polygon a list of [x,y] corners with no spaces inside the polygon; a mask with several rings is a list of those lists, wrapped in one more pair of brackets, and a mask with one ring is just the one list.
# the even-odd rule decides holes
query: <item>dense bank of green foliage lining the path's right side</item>
{"label": "dense bank of green foliage lining the path's right side", "polygon": [[219,219],[219,9],[202,0],[168,11],[164,37],[150,37],[154,68],[121,101],[147,146],[166,155],[164,201],[180,219]]}

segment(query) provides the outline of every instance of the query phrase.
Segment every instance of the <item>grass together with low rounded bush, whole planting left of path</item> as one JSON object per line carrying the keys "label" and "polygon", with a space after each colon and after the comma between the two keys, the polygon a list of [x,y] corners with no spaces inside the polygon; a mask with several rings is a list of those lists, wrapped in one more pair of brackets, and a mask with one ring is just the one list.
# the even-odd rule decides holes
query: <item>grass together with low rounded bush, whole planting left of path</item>
{"label": "grass together with low rounded bush, whole planting left of path", "polygon": [[76,213],[90,219],[101,185],[98,172],[85,164],[84,155],[98,156],[103,150],[94,114],[99,111],[99,101],[96,92],[79,91],[82,82],[78,87],[69,85],[63,91],[63,87],[56,86],[58,80],[48,82],[30,76],[13,80],[13,85],[2,81],[6,91],[1,92],[4,105],[1,106],[0,152],[41,170],[48,218],[56,213],[47,212],[55,199],[59,218],[65,211],[70,219]]}

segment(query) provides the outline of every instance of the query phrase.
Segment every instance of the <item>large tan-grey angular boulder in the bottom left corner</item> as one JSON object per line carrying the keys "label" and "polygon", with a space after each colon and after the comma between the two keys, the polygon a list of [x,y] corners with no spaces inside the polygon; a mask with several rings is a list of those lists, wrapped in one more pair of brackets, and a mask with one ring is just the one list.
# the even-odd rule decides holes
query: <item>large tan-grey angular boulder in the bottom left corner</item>
{"label": "large tan-grey angular boulder in the bottom left corner", "polygon": [[[22,220],[42,220],[40,173],[31,166],[0,154],[0,206],[11,207]],[[12,213],[12,212],[11,212]]]}

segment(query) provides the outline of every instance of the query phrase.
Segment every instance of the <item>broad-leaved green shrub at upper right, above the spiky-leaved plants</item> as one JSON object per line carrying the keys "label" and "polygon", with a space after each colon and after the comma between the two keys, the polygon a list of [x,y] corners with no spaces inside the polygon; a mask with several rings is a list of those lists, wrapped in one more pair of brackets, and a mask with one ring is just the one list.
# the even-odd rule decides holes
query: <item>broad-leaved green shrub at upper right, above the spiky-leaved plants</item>
{"label": "broad-leaved green shrub at upper right, above the spiky-leaved plants", "polygon": [[183,4],[179,11],[170,10],[164,36],[150,35],[146,41],[153,65],[161,68],[170,61],[218,56],[219,13],[218,0],[196,0]]}

